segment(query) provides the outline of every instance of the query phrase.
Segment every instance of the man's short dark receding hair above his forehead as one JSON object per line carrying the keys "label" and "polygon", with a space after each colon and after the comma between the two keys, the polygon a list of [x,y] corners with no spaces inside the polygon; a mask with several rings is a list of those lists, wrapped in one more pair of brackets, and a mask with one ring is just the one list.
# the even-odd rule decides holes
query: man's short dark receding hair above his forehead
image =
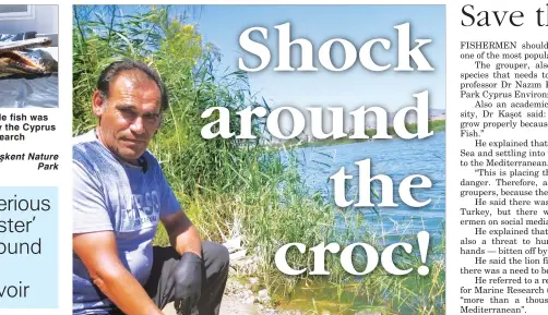
{"label": "man's short dark receding hair above his forehead", "polygon": [[129,70],[138,70],[141,71],[142,73],[146,74],[148,78],[154,81],[156,85],[159,88],[159,93],[162,96],[162,110],[166,110],[169,107],[169,100],[167,96],[167,88],[164,82],[162,82],[162,78],[159,77],[158,73],[151,69],[148,65],[131,60],[131,59],[123,59],[121,61],[115,61],[107,65],[99,75],[99,78],[97,80],[97,89],[99,90],[100,95],[107,99],[109,95],[109,85],[110,82],[122,71],[129,71]]}

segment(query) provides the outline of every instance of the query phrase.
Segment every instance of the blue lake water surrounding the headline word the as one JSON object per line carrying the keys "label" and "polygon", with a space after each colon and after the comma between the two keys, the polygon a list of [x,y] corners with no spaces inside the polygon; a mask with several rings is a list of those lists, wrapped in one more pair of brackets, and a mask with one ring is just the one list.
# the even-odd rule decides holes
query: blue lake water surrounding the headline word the
{"label": "blue lake water surrounding the headline word the", "polygon": [[[355,162],[370,159],[371,177],[389,175],[393,180],[394,203],[397,207],[350,208],[347,211],[364,214],[369,222],[367,229],[377,235],[395,237],[428,231],[434,239],[444,233],[445,220],[445,133],[436,133],[425,140],[386,140],[342,144],[323,147],[307,147],[295,150],[300,161],[300,174],[308,187],[321,191],[333,202],[333,181],[329,178],[341,168],[353,180],[346,199],[358,201],[358,167]],[[398,194],[403,179],[412,174],[422,174],[430,179],[430,189],[413,189],[417,201],[431,202],[425,207],[414,208],[404,204]],[[418,180],[413,181],[418,183]],[[380,182],[373,181],[374,191],[381,196]],[[371,196],[373,204],[380,201]],[[377,210],[377,213],[376,213]]]}

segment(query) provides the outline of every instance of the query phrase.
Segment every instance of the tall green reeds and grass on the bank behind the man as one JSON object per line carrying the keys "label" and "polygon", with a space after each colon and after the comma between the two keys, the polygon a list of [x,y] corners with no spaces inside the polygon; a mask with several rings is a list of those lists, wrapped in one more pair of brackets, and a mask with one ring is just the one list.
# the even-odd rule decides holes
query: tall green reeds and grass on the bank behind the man
{"label": "tall green reeds and grass on the bank behind the man", "polygon": [[[170,97],[163,128],[150,149],[160,161],[168,182],[203,239],[224,242],[236,234],[243,237],[245,247],[259,261],[253,275],[242,276],[259,277],[261,288],[267,288],[276,296],[274,304],[290,305],[291,299],[302,298],[296,295],[301,288],[317,283],[335,290],[336,294],[330,293],[329,299],[341,302],[337,306],[341,313],[354,307],[344,302],[350,294],[359,305],[380,307],[386,310],[385,314],[403,314],[403,310],[410,310],[412,314],[444,314],[442,259],[432,262],[431,270],[436,272],[428,277],[418,277],[416,272],[395,277],[379,269],[356,279],[342,269],[336,255],[326,259],[332,270],[329,277],[281,274],[274,265],[274,254],[283,244],[299,242],[311,247],[322,242],[344,245],[360,240],[380,249],[382,235],[364,233],[369,223],[364,216],[353,209],[337,208],[320,193],[307,190],[297,172],[299,161],[291,152],[272,150],[264,145],[269,144],[264,138],[201,137],[201,128],[215,119],[202,119],[205,109],[229,108],[234,116],[231,130],[237,130],[236,111],[265,105],[250,93],[246,73],[219,71],[221,51],[204,43],[184,19],[172,19],[178,12],[175,8],[158,7],[124,17],[117,13],[116,5],[97,9],[93,5],[74,9],[75,134],[95,125],[90,101],[99,71],[122,57],[144,61],[160,73]],[[253,133],[265,134],[264,121],[255,121]],[[283,159],[284,155],[288,158]],[[344,227],[335,228],[341,220]],[[168,243],[162,227],[154,242]],[[444,247],[432,251],[443,252]],[[401,256],[420,265],[416,256],[405,253]],[[288,253],[288,262],[296,269],[312,267],[312,259],[311,252]],[[322,307],[321,296],[312,294],[308,301],[318,303],[301,306],[305,311],[318,311]]]}

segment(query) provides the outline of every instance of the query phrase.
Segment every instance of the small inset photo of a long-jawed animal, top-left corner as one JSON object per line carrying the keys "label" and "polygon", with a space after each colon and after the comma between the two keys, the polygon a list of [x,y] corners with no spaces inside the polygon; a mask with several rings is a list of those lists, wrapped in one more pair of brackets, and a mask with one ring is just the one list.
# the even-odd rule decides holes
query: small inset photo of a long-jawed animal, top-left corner
{"label": "small inset photo of a long-jawed animal, top-left corner", "polygon": [[57,108],[58,5],[0,4],[0,108]]}

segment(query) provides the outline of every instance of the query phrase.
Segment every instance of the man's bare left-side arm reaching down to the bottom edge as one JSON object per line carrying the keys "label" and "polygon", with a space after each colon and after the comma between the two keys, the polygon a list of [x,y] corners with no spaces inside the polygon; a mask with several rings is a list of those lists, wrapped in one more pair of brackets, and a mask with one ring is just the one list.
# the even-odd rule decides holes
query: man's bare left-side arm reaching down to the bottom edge
{"label": "man's bare left-side arm reaching down to the bottom edge", "polygon": [[73,234],[74,253],[82,259],[94,283],[124,314],[162,314],[141,283],[118,258],[111,231]]}

